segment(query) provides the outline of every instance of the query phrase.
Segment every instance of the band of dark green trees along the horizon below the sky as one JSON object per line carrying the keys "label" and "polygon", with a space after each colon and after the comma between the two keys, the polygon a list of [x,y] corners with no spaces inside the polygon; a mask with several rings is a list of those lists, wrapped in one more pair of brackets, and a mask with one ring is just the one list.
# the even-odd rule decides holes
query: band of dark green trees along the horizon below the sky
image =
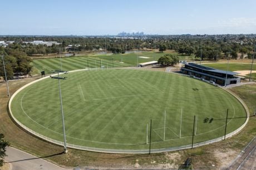
{"label": "band of dark green trees along the horizon below the sky", "polygon": [[[61,44],[46,46],[46,44],[30,44],[27,41],[57,41]],[[120,37],[82,37],[82,36],[0,36],[0,41],[14,41],[7,47],[0,47],[0,54],[4,54],[8,78],[14,73],[27,75],[31,72],[32,54],[50,54],[65,52],[82,52],[92,50],[107,50],[114,54],[125,53],[131,49],[167,49],[174,50],[181,55],[191,56],[203,60],[218,60],[222,58],[238,58],[247,56],[252,58],[256,35],[178,35],[178,36],[143,36],[132,39]],[[69,48],[66,48],[71,45]],[[0,76],[3,76],[2,61],[0,62]]]}

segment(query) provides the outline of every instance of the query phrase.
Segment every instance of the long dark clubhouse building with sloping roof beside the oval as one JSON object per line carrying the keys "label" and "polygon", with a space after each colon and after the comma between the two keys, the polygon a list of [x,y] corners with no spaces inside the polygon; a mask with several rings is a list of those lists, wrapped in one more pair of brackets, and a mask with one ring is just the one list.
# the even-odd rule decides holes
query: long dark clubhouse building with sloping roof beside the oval
{"label": "long dark clubhouse building with sloping roof beside the oval", "polygon": [[214,82],[221,86],[225,85],[226,75],[226,85],[240,83],[240,77],[235,77],[235,75],[238,74],[236,72],[223,71],[220,69],[202,66],[200,64],[186,63],[185,66],[180,69],[180,71],[184,74],[188,74],[195,78],[200,78],[209,82]]}

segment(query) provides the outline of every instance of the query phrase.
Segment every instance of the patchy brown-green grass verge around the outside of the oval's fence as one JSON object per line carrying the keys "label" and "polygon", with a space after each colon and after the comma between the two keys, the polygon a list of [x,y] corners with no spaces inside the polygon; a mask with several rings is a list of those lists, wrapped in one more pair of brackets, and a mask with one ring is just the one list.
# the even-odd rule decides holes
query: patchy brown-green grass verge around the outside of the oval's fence
{"label": "patchy brown-green grass verge around the outside of the oval's fence", "polygon": [[[34,79],[22,79],[20,81],[9,82],[11,94],[19,87],[33,81]],[[256,84],[235,87],[231,89],[238,94],[250,109],[250,113],[255,110]],[[78,151],[68,149],[67,154],[58,154],[62,152],[62,147],[51,143],[41,141],[40,139],[29,135],[17,127],[9,118],[7,113],[8,98],[6,97],[6,84],[0,84],[0,133],[6,136],[6,139],[13,147],[22,149],[28,153],[40,157],[46,157],[47,160],[61,166],[80,166],[87,168],[178,168],[185,159],[191,157],[193,167],[197,169],[213,168],[227,166],[232,159],[246,146],[246,144],[256,135],[256,119],[251,117],[247,126],[242,132],[225,141],[214,143],[195,149],[187,149],[178,152],[166,152],[155,154],[107,154],[87,151]]]}

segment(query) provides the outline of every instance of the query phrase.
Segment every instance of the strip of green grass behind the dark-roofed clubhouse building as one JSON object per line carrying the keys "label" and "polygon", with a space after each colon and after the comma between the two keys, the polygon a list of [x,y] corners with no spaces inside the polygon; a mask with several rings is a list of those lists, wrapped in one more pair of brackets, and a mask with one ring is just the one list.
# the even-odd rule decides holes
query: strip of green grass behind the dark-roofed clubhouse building
{"label": "strip of green grass behind the dark-roofed clubhouse building", "polygon": [[[204,63],[207,67],[213,67],[216,69],[227,70],[227,63]],[[229,63],[228,71],[242,71],[242,70],[250,70],[250,63]],[[253,70],[256,70],[256,64],[253,64]]]}

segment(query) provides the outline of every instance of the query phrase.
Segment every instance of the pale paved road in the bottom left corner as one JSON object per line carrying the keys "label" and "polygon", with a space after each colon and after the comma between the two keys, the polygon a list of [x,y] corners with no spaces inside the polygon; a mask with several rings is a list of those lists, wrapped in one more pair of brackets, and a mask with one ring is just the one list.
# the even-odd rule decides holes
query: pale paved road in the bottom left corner
{"label": "pale paved road in the bottom left corner", "polygon": [[11,164],[12,170],[68,170],[13,147],[8,147],[6,153],[4,160]]}

